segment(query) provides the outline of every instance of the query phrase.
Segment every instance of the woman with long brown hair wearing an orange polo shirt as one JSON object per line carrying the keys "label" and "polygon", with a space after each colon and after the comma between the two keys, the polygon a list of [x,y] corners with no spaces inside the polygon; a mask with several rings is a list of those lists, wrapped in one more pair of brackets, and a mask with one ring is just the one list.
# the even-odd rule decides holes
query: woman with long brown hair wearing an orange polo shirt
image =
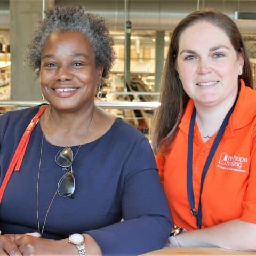
{"label": "woman with long brown hair wearing an orange polo shirt", "polygon": [[177,226],[169,246],[256,250],[255,136],[256,92],[238,28],[217,10],[191,13],[173,31],[154,133]]}

